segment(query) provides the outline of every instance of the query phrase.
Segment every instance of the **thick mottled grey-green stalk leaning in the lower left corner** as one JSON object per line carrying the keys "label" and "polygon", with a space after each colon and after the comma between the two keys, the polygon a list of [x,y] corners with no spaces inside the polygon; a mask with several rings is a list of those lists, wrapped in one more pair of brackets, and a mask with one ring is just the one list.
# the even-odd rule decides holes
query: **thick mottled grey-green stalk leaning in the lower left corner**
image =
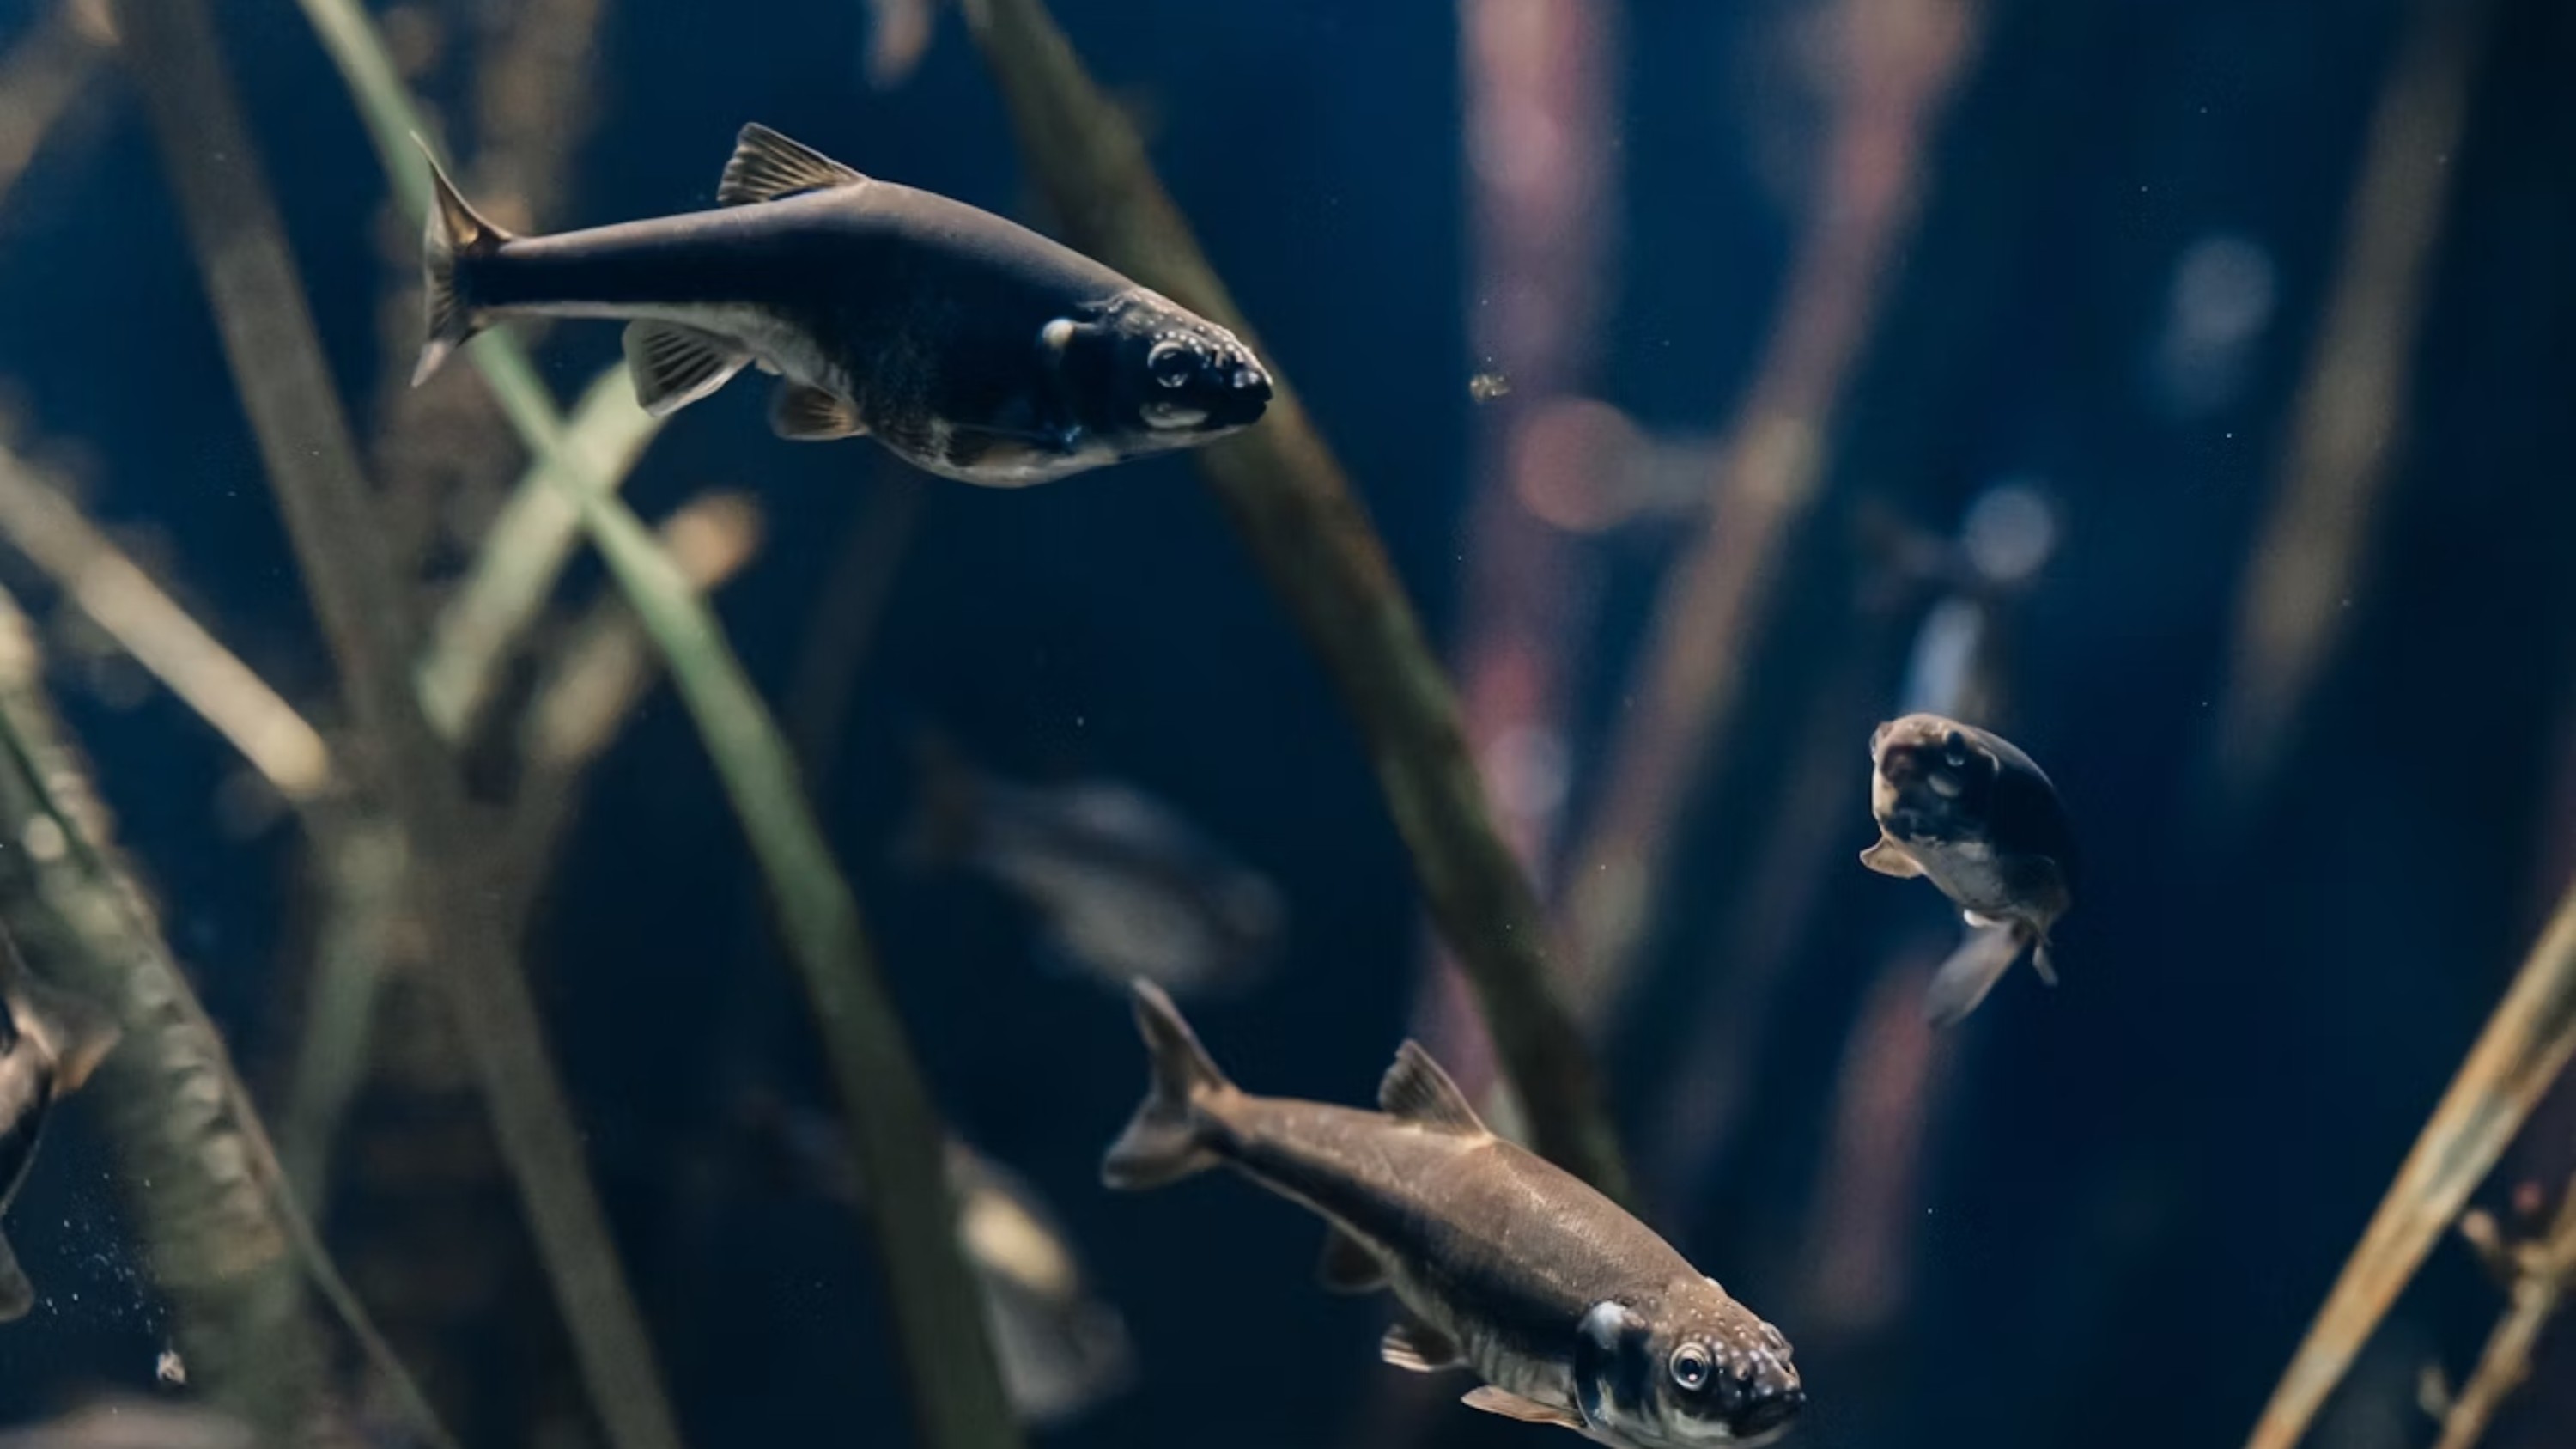
{"label": "thick mottled grey-green stalk leaning in the lower left corner", "polygon": [[286,1196],[214,1021],[116,859],[88,771],[44,696],[36,634],[5,593],[0,838],[21,846],[0,851],[0,915],[49,977],[108,1006],[124,1029],[82,1101],[103,1109],[196,1382],[260,1426],[263,1444],[322,1434],[327,1364],[304,1307],[309,1269],[420,1436],[453,1449]]}

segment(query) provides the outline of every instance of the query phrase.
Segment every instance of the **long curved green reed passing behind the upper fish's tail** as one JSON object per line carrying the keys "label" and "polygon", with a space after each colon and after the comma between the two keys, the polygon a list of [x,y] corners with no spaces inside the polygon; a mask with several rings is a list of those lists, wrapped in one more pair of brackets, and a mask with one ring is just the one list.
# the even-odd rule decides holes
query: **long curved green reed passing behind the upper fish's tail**
{"label": "long curved green reed passing behind the upper fish's tail", "polygon": [[[407,206],[428,193],[425,134],[374,21],[353,0],[301,0],[322,46],[358,98],[379,157]],[[832,848],[806,810],[786,740],[734,657],[724,629],[611,480],[569,446],[554,397],[507,333],[484,333],[466,358],[492,384],[513,428],[572,503],[580,526],[670,668],[770,887],[788,959],[804,982],[824,1060],[868,1181],[889,1183],[868,1217],[896,1343],[912,1385],[914,1428],[933,1449],[1020,1444],[1010,1397],[956,1235],[943,1171],[943,1127],[922,1085]]]}

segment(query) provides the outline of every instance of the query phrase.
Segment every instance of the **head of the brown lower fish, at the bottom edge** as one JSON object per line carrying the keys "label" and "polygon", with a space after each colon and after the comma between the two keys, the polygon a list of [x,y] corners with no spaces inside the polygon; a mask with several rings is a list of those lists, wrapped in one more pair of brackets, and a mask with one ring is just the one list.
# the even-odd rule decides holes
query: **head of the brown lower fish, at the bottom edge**
{"label": "head of the brown lower fish, at the bottom edge", "polygon": [[1584,1421],[1646,1449],[1770,1444],[1806,1408],[1788,1338],[1716,1279],[1677,1284],[1651,1312],[1597,1305],[1574,1379]]}

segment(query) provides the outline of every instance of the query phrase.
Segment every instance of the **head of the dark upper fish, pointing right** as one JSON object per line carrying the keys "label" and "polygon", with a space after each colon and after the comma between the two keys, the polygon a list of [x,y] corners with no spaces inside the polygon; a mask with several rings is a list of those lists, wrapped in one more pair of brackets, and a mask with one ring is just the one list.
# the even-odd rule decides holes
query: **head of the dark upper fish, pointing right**
{"label": "head of the dark upper fish, pointing right", "polygon": [[1234,333],[1146,289],[1041,335],[1074,420],[1128,451],[1188,449],[1260,423],[1270,371]]}

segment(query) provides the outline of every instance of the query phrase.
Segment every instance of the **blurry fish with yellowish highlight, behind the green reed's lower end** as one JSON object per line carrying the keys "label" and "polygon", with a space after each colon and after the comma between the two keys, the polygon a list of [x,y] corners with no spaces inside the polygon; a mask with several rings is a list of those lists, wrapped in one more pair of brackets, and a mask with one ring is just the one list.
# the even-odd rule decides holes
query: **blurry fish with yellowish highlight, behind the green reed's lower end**
{"label": "blurry fish with yellowish highlight, behind the green reed's lower end", "polygon": [[[750,1098],[744,1114],[796,1181],[835,1201],[866,1201],[837,1122],[765,1096]],[[1020,1421],[1064,1423],[1133,1385],[1126,1320],[1092,1292],[1072,1240],[1038,1194],[956,1137],[948,1140],[948,1189],[958,1201],[966,1261],[984,1289],[1002,1387]]]}

